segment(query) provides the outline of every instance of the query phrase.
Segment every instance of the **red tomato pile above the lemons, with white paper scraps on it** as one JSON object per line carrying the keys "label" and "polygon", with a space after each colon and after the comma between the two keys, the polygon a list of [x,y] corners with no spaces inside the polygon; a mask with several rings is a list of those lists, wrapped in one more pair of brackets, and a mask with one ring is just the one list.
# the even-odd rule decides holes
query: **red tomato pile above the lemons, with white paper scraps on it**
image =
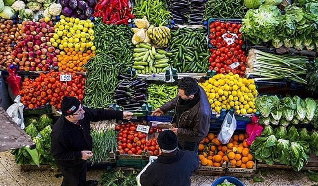
{"label": "red tomato pile above the lemons, with white paper scraps on it", "polygon": [[[213,46],[210,49],[210,70],[216,71],[217,74],[232,72],[233,74],[239,74],[241,77],[244,76],[247,57],[245,51],[242,50],[244,41],[241,39],[240,27],[241,24],[223,23],[220,21],[210,24],[209,43]],[[226,34],[226,38],[232,38],[233,35],[231,33],[236,34],[238,38],[234,40],[234,43],[228,45],[222,36]],[[239,66],[232,69],[230,65],[235,62],[239,62]]]}

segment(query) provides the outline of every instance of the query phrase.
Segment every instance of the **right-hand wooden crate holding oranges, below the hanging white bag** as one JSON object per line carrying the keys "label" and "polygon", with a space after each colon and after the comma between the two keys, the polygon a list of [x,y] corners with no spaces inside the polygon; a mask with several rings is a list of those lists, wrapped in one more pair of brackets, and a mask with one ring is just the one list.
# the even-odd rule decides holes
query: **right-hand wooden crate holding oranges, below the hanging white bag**
{"label": "right-hand wooden crate holding oranges, below the hanging white bag", "polygon": [[225,173],[226,176],[233,177],[244,177],[244,178],[252,178],[256,172],[256,161],[254,161],[254,166],[251,169],[247,168],[232,168],[231,162],[228,163],[227,171]]}

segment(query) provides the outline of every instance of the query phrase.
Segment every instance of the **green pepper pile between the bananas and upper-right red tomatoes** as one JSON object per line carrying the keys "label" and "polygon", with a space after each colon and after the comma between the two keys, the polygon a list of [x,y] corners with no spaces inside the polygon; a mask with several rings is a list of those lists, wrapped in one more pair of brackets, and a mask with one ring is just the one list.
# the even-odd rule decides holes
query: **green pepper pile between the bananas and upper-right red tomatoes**
{"label": "green pepper pile between the bananas and upper-right red tomatoes", "polygon": [[202,28],[179,28],[171,32],[169,42],[170,64],[179,73],[206,72],[208,69],[209,52],[207,50],[206,35]]}

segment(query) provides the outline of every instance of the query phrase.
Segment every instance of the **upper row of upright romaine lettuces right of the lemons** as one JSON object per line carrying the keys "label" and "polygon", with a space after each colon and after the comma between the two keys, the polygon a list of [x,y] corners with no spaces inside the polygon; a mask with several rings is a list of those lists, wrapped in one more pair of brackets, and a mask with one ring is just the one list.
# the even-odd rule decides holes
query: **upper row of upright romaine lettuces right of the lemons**
{"label": "upper row of upright romaine lettuces right of the lemons", "polygon": [[255,100],[260,112],[259,124],[281,125],[309,124],[317,110],[317,103],[312,98],[300,99],[298,96],[284,97],[261,96]]}

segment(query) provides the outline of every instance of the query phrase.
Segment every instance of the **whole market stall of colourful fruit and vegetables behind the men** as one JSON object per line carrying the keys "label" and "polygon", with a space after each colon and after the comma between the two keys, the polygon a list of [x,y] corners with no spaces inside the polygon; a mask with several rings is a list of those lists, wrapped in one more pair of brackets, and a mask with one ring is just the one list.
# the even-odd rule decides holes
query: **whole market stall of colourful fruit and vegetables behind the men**
{"label": "whole market stall of colourful fruit and vegetables behind the men", "polygon": [[[152,111],[190,76],[212,109],[196,174],[318,170],[314,0],[1,2],[1,83],[21,96],[25,131],[37,144],[12,151],[17,164],[54,166],[49,133],[62,97],[71,96],[134,113],[132,121],[91,124],[90,162],[142,169],[159,155],[158,134],[173,126],[174,111]],[[231,135],[221,137],[225,126]]]}

